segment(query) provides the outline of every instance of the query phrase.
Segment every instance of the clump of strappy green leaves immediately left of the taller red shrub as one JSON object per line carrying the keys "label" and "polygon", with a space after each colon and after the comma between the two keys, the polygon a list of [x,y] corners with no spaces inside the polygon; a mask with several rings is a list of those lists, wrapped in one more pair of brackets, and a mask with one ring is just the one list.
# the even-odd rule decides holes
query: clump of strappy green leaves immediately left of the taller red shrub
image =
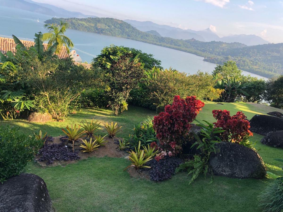
{"label": "clump of strappy green leaves immediately left of the taller red shrub", "polygon": [[134,124],[133,133],[127,139],[131,147],[135,147],[141,141],[142,145],[150,144],[157,141],[156,132],[153,129],[153,117],[147,119],[139,124]]}

